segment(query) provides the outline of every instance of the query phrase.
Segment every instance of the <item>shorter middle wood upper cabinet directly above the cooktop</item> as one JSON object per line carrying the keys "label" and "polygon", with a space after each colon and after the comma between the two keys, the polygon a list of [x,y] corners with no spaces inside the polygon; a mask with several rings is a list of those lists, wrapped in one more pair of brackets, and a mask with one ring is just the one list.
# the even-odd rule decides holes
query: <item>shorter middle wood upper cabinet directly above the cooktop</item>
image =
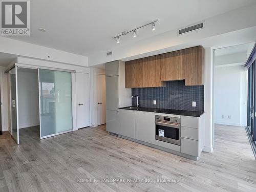
{"label": "shorter middle wood upper cabinet directly above the cooktop", "polygon": [[161,81],[185,79],[184,50],[161,54]]}

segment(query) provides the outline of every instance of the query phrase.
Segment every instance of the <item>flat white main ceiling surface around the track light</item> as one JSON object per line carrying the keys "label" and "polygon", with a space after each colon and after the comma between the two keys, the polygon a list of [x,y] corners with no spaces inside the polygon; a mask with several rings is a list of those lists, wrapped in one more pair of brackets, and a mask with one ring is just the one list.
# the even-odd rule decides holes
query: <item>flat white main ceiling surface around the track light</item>
{"label": "flat white main ceiling surface around the track light", "polygon": [[[33,0],[30,36],[12,36],[32,44],[88,56],[118,46],[113,36],[158,18],[156,30],[151,26],[126,35],[120,44],[133,44],[144,38],[194,24],[255,0]],[[39,32],[38,28],[47,32]]]}

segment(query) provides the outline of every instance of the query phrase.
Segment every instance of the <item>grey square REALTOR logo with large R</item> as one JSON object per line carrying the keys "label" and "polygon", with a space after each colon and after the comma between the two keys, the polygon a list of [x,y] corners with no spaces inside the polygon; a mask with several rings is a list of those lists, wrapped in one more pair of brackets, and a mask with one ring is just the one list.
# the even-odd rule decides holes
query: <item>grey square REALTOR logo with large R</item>
{"label": "grey square REALTOR logo with large R", "polygon": [[30,1],[0,1],[0,35],[30,35]]}

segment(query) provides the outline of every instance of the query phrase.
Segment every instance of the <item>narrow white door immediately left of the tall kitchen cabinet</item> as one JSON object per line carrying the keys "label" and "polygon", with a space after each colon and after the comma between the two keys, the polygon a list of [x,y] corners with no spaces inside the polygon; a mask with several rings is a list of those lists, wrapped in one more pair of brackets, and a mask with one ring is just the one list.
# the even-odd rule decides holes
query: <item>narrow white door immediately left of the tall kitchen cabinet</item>
{"label": "narrow white door immediately left of the tall kitchen cabinet", "polygon": [[98,125],[106,123],[106,82],[104,74],[97,74],[97,120]]}

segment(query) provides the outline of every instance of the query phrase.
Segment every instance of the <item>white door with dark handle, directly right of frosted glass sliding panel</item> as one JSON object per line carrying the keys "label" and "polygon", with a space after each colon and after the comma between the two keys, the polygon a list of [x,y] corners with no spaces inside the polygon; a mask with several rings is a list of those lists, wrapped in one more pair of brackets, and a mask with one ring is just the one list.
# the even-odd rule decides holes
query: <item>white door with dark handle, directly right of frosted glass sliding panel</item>
{"label": "white door with dark handle, directly right of frosted glass sliding panel", "polygon": [[76,73],[77,128],[90,126],[90,79],[88,73]]}

